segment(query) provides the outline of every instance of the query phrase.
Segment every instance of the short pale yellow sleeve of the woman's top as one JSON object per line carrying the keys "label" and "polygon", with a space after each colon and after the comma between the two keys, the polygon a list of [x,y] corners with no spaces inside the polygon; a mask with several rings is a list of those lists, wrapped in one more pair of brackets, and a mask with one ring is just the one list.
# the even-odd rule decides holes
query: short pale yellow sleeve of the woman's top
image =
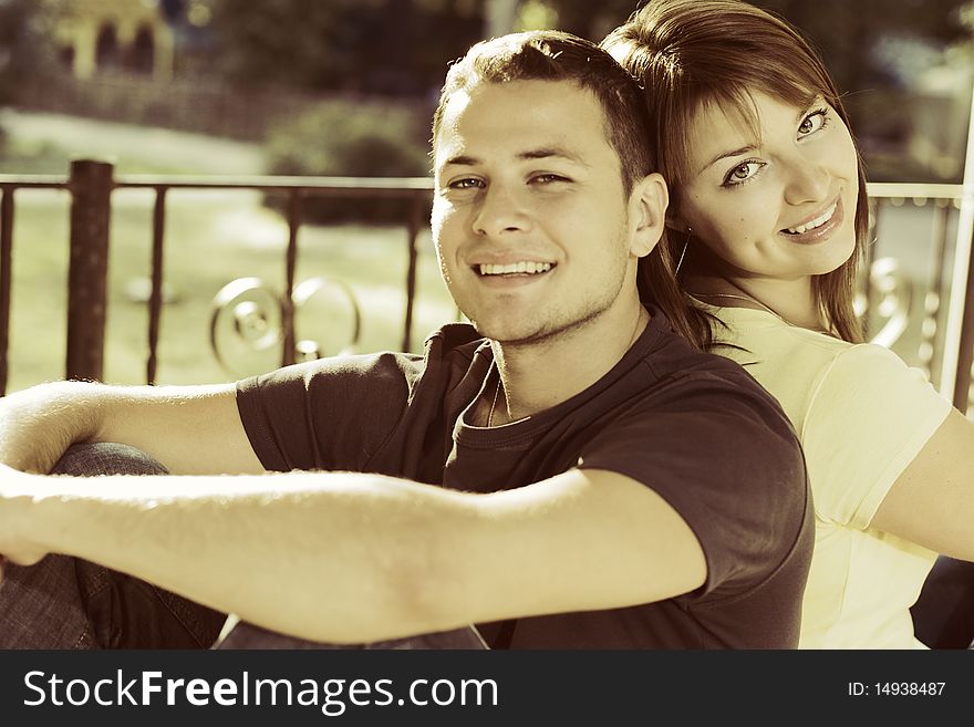
{"label": "short pale yellow sleeve of the woman's top", "polygon": [[838,354],[801,433],[818,516],[868,528],[950,411],[926,375],[888,349],[862,344]]}

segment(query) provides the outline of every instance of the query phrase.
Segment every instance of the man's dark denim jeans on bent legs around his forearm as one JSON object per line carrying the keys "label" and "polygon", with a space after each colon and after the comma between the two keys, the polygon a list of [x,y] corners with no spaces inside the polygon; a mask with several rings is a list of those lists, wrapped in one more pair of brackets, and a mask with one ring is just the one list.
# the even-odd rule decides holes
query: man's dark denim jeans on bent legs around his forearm
{"label": "man's dark denim jeans on bent legs around his forearm", "polygon": [[[75,445],[52,474],[162,475],[142,451]],[[80,558],[7,563],[0,582],[0,648],[209,648],[227,614]],[[475,629],[338,646],[237,624],[219,648],[485,648]]]}

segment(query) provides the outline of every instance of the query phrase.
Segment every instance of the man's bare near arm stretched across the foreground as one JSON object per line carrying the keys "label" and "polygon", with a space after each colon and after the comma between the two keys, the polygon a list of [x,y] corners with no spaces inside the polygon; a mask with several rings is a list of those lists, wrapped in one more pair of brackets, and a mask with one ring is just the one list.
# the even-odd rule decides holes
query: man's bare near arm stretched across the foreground
{"label": "man's bare near arm stretched across the foreground", "polygon": [[79,555],[339,643],[633,605],[706,577],[697,539],[653,490],[578,469],[475,495],[342,472],[75,480],[3,468],[0,552]]}

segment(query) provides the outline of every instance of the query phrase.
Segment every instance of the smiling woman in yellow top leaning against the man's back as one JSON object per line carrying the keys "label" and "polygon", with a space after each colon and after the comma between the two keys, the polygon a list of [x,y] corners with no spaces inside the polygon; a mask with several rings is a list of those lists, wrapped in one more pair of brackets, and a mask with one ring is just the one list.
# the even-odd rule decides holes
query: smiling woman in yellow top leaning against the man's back
{"label": "smiling woman in yellow top leaning against the man's back", "polygon": [[937,553],[974,560],[974,425],[862,343],[866,177],[833,82],[791,27],[734,0],[652,0],[602,44],[656,120],[661,267],[702,312],[698,342],[744,364],[805,448],[799,646],[922,648],[910,606]]}

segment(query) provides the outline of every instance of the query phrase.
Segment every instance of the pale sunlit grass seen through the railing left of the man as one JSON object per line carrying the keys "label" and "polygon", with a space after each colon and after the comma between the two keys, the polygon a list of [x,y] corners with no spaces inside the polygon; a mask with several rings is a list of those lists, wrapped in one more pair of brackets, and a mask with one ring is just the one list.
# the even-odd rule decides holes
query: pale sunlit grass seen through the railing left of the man
{"label": "pale sunlit grass seen through the railing left of the man", "polygon": [[[43,158],[23,166],[50,173],[61,162],[66,173],[63,152],[45,146],[43,153]],[[17,156],[8,156],[0,168],[28,173],[11,160]],[[51,190],[22,189],[15,199],[11,392],[64,376],[70,204],[66,193]],[[152,205],[153,194],[144,190],[117,190],[113,196],[103,376],[110,383],[145,382],[148,308],[139,294],[151,274]],[[229,364],[221,366],[210,345],[210,324],[214,297],[231,280],[256,277],[282,291],[286,242],[284,221],[261,205],[256,191],[169,193],[164,263],[169,300],[162,315],[157,383],[234,381],[280,364],[279,346],[255,352],[231,335],[221,337]],[[457,316],[439,278],[428,229],[419,245],[414,351],[422,350],[429,331]],[[297,281],[328,276],[353,291],[362,312],[358,351],[402,349],[406,267],[405,227],[301,228]],[[319,341],[321,353],[336,353],[349,341],[350,321],[341,299],[311,299],[297,313],[297,333],[299,340]]]}

